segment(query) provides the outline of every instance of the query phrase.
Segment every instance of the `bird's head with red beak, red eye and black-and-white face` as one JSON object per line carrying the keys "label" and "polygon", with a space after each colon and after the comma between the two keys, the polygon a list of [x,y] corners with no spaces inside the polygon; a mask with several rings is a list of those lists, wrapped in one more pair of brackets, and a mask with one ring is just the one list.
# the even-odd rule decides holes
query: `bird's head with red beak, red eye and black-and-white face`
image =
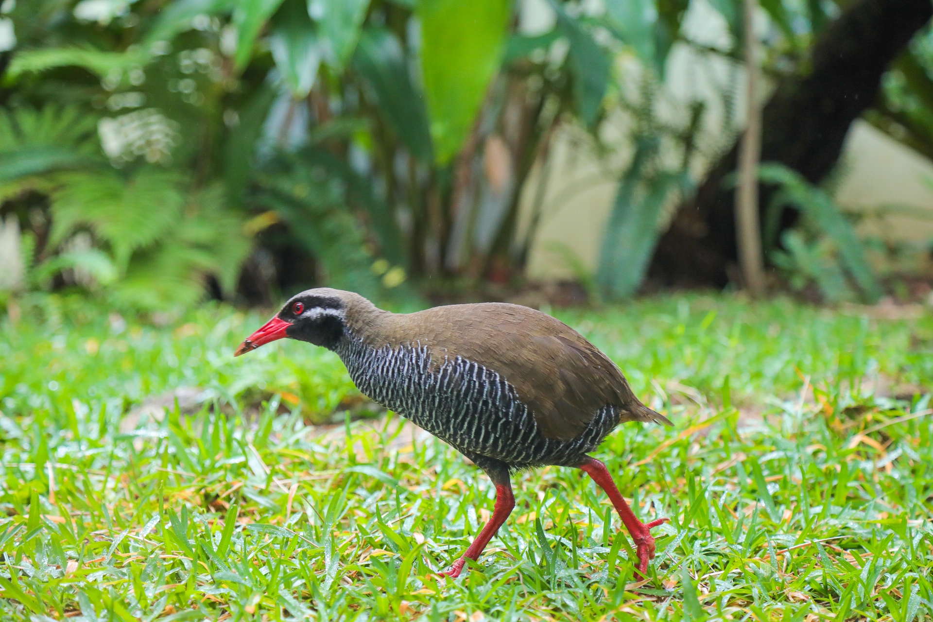
{"label": "bird's head with red beak, red eye and black-and-white face", "polygon": [[240,344],[234,356],[239,356],[276,339],[299,339],[333,350],[346,327],[350,292],[336,289],[309,289],[291,297],[282,310]]}

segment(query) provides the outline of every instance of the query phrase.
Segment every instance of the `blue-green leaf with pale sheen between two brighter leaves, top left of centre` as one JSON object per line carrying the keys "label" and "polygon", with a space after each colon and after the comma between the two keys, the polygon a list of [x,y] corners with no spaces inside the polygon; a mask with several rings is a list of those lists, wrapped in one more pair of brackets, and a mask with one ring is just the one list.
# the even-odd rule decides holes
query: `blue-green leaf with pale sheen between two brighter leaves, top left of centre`
{"label": "blue-green leaf with pale sheen between two brighter leaves, top left of centre", "polygon": [[285,0],[272,18],[272,58],[297,98],[311,91],[321,62],[320,40],[314,30],[304,0]]}

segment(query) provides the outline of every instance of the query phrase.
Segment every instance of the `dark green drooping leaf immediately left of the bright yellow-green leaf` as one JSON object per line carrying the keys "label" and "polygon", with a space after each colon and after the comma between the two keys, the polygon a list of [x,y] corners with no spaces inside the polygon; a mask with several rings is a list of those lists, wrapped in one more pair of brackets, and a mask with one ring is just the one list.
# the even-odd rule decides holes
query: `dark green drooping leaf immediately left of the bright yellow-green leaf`
{"label": "dark green drooping leaf immediately left of the bright yellow-green leaf", "polygon": [[425,100],[411,81],[408,59],[396,35],[383,28],[366,29],[356,47],[354,68],[369,85],[379,114],[411,155],[430,161],[433,151]]}

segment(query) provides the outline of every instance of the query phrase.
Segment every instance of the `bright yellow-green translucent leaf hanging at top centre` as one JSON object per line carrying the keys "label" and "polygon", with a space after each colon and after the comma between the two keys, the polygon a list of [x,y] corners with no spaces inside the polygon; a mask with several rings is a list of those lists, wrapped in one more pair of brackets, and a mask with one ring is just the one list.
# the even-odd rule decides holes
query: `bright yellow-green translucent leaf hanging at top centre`
{"label": "bright yellow-green translucent leaf hanging at top centre", "polygon": [[435,158],[445,164],[473,127],[502,62],[508,0],[421,0],[421,66]]}

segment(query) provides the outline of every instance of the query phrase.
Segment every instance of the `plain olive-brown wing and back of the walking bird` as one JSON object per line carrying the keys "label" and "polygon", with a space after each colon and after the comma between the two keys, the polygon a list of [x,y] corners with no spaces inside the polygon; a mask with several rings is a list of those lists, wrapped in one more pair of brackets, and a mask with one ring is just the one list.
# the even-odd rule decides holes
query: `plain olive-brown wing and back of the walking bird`
{"label": "plain olive-brown wing and back of the walking bird", "polygon": [[407,326],[393,332],[418,335],[435,360],[462,356],[499,373],[550,438],[579,435],[606,405],[645,408],[606,354],[540,311],[485,303],[436,307],[395,318]]}

